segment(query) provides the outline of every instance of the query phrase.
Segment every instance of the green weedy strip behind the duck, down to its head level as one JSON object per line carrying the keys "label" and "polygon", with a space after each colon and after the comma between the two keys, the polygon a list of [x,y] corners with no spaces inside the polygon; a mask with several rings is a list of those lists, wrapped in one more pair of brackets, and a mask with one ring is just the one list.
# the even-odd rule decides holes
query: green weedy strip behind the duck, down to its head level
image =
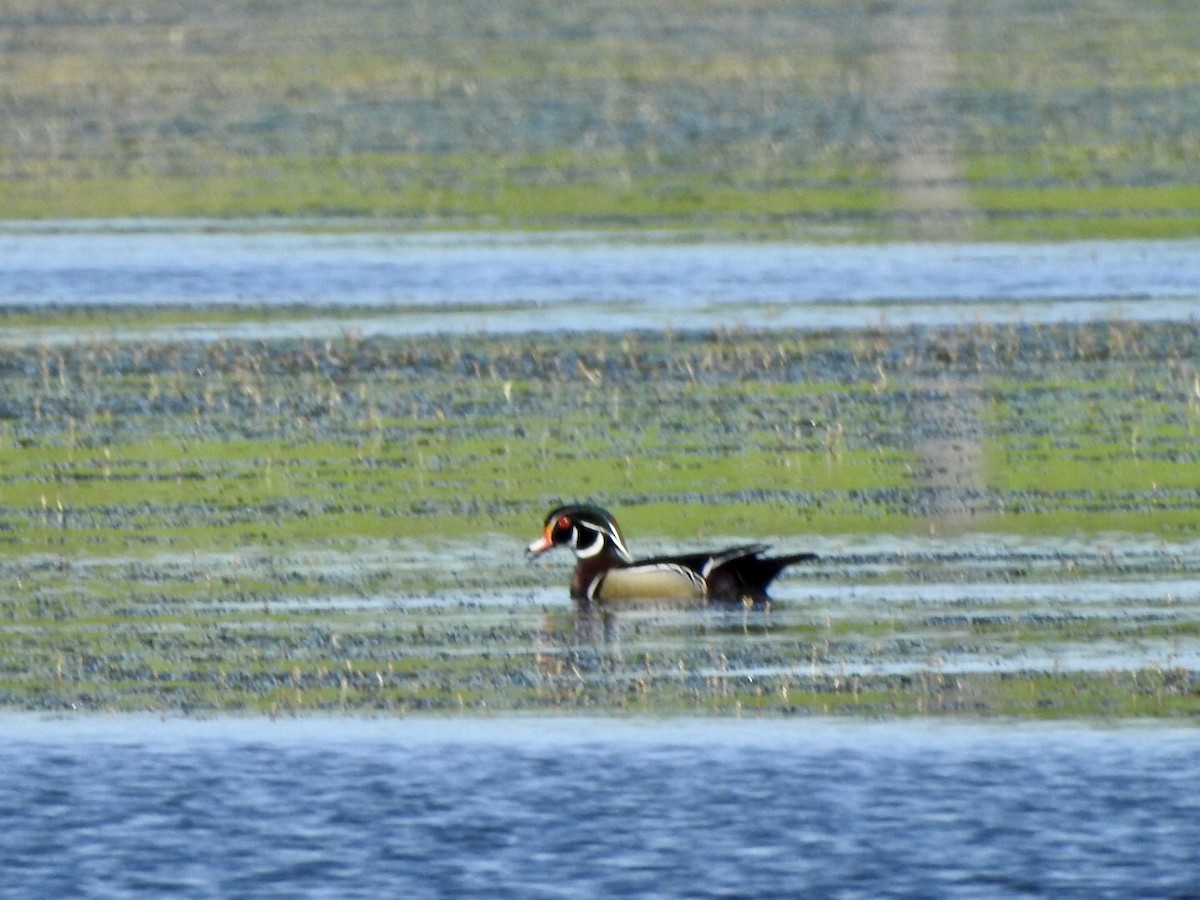
{"label": "green weedy strip behind the duck, down to its head level", "polygon": [[562,496],[671,536],[920,529],[916,433],[964,385],[970,527],[1194,530],[1194,330],[1021,331],[10,349],[0,552],[496,532]]}

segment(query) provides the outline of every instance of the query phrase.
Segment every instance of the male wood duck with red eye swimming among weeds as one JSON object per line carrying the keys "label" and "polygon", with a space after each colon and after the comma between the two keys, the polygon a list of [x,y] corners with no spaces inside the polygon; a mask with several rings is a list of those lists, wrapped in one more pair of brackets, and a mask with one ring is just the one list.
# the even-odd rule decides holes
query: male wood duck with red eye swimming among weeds
{"label": "male wood duck with red eye swimming among weeds", "polygon": [[713,553],[634,559],[617,520],[599,506],[552,509],[526,556],[554,547],[575,553],[571,598],[578,602],[630,600],[755,604],[768,601],[767,586],[785,566],[816,559],[816,553],[766,557],[766,544],[726,547]]}

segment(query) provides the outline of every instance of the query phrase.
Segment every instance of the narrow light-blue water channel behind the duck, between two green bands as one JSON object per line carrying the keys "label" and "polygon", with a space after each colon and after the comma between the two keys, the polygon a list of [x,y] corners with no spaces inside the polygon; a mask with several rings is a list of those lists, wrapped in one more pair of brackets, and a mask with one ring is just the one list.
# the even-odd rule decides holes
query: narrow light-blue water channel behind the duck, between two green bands
{"label": "narrow light-blue water channel behind the duck, between two green bands", "polygon": [[[133,336],[1186,319],[1196,314],[1198,284],[1200,242],[1186,240],[812,245],[163,222],[0,229],[0,305],[313,310],[300,320]],[[319,314],[346,307],[388,312]]]}

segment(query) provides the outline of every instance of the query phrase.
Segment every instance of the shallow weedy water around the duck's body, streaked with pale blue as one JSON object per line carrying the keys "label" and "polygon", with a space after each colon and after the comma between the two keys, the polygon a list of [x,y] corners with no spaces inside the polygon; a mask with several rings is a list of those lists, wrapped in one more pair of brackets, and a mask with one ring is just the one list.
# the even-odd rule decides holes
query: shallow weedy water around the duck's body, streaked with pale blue
{"label": "shallow weedy water around the duck's body, streaked with pale blue", "polygon": [[[70,571],[49,560],[60,577],[37,602],[68,602],[72,614],[5,628],[25,654],[6,670],[10,696],[44,710],[265,709],[274,697],[313,713],[745,704],[863,718],[1194,716],[1194,540],[847,535],[803,546],[820,562],[785,572],[769,611],[637,608],[604,623],[574,611],[569,557],[530,565],[520,541],[500,536],[437,552],[397,540],[97,558]],[[460,558],[474,577],[440,590],[374,577],[408,569],[436,583]],[[46,577],[22,560],[0,576]],[[115,607],[79,596],[124,580],[152,588]],[[271,587],[246,593],[242,580]],[[188,587],[205,583],[228,587]]]}

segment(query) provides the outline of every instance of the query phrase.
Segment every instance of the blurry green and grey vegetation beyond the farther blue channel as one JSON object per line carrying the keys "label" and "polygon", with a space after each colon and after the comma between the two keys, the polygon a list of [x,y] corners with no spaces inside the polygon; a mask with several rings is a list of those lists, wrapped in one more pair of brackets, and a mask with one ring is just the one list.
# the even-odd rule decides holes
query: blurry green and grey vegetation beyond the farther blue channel
{"label": "blurry green and grey vegetation beyond the farther blue channel", "polygon": [[1200,234],[1192,0],[18,0],[0,216]]}

